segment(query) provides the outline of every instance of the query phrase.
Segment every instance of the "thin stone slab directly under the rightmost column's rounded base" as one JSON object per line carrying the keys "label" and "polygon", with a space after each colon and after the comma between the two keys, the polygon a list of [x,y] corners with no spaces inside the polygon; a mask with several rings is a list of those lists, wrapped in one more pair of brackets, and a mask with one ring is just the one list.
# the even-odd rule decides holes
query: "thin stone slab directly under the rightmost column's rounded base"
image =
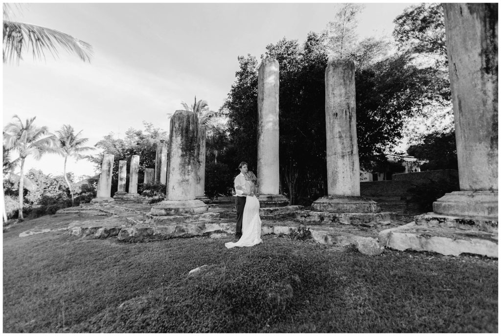
{"label": "thin stone slab directly under the rightmost column's rounded base", "polygon": [[463,230],[480,230],[497,233],[497,220],[495,219],[465,218],[428,212],[415,216],[414,221],[418,225],[454,227]]}

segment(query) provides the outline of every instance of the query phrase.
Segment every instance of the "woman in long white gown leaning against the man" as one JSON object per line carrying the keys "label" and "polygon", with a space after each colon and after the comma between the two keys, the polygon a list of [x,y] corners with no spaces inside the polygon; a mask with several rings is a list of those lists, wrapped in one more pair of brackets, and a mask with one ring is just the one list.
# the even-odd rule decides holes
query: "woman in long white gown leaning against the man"
{"label": "woman in long white gown leaning against the man", "polygon": [[243,191],[243,195],[246,195],[242,218],[242,236],[236,243],[225,243],[224,246],[227,248],[254,246],[263,242],[261,239],[261,218],[259,217],[260,205],[258,197],[256,197],[258,178],[252,171],[246,172],[244,176],[245,187],[236,187]]}

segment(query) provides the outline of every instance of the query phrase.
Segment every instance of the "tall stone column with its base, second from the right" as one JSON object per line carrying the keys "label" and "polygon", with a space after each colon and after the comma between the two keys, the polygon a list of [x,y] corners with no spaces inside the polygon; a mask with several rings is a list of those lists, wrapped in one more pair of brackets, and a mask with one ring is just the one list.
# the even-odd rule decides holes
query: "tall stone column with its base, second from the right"
{"label": "tall stone column with its base, second from the right", "polygon": [[360,197],[357,144],[355,64],[334,60],[325,69],[325,126],[327,137],[327,194],[315,210],[379,212],[376,202]]}

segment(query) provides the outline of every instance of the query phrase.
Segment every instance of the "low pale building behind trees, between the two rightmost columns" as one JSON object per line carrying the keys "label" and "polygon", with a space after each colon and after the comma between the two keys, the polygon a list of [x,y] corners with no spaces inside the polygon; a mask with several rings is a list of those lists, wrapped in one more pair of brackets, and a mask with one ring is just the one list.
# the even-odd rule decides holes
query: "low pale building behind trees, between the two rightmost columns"
{"label": "low pale building behind trees, between the two rightmost columns", "polygon": [[418,172],[421,171],[421,165],[427,162],[409,155],[387,153],[385,155],[388,163],[382,165],[380,171],[367,172],[360,170],[360,182],[387,181],[392,179],[393,174]]}

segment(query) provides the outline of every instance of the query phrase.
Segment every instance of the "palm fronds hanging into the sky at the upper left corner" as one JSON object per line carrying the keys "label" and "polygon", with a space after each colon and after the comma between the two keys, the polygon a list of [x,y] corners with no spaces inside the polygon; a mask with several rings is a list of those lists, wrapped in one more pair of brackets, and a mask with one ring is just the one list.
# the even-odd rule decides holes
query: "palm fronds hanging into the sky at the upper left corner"
{"label": "palm fronds hanging into the sky at the upper left corner", "polygon": [[45,51],[56,57],[57,47],[73,52],[82,61],[90,63],[93,53],[90,44],[54,29],[10,21],[10,13],[10,4],[4,3],[4,63],[8,60],[19,63],[25,49],[32,49],[34,59],[45,59]]}

